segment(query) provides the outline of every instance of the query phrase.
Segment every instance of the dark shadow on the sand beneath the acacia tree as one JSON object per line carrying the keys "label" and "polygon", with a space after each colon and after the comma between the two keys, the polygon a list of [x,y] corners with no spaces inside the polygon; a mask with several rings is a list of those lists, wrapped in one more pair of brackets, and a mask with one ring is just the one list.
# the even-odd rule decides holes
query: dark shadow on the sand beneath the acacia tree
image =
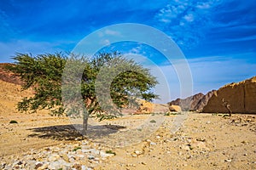
{"label": "dark shadow on the sand beneath the acacia tree", "polygon": [[119,125],[96,125],[88,126],[87,135],[83,136],[80,132],[82,130],[81,124],[75,125],[57,125],[49,127],[35,127],[26,130],[32,131],[28,137],[37,137],[42,139],[55,140],[81,140],[81,139],[99,139],[106,137],[111,133],[117,133],[119,129],[125,128]]}

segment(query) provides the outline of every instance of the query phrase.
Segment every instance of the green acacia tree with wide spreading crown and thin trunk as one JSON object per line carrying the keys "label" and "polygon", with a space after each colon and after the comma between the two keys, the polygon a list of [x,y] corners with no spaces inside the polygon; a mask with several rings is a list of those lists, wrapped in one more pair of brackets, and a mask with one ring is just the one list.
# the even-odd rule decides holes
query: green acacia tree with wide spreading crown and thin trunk
{"label": "green acacia tree with wide spreading crown and thin trunk", "polygon": [[100,121],[113,118],[122,107],[137,105],[138,99],[158,97],[151,91],[158,82],[148,69],[116,52],[93,58],[17,54],[13,59],[15,65],[7,68],[24,82],[23,90],[34,90],[34,96],[21,99],[18,110],[49,109],[53,115],[83,116],[84,134],[89,116]]}

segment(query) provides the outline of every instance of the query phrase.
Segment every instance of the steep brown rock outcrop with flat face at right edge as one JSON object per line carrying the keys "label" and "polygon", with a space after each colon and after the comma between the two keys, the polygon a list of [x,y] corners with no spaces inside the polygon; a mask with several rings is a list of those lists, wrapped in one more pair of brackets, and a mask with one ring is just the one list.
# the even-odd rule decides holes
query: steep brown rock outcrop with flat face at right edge
{"label": "steep brown rock outcrop with flat face at right edge", "polygon": [[209,99],[203,112],[227,113],[229,111],[225,105],[230,105],[233,113],[256,113],[256,77],[219,88]]}

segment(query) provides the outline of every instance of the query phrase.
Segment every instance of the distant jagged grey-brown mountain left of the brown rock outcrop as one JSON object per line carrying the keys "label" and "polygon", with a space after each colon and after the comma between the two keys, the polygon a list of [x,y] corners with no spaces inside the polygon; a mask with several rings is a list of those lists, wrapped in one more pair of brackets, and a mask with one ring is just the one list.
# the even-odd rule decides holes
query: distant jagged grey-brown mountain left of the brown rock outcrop
{"label": "distant jagged grey-brown mountain left of the brown rock outcrop", "polygon": [[189,96],[186,99],[175,99],[168,103],[168,105],[179,105],[183,111],[197,111],[202,110],[207,105],[208,100],[212,97],[216,90],[208,92],[206,95],[199,93]]}

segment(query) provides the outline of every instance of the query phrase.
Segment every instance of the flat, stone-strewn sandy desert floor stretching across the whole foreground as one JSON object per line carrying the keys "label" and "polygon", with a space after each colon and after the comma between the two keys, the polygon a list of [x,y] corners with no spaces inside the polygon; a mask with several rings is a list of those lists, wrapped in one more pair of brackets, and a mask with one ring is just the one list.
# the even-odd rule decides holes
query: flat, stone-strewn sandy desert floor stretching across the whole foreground
{"label": "flat, stone-strewn sandy desert floor stretching across the whole foreground", "polygon": [[[256,119],[252,115],[189,113],[176,133],[171,133],[176,116],[164,116],[156,131],[130,143],[129,136],[121,135],[134,131],[136,136],[134,127],[154,116],[126,116],[91,125],[89,139],[76,134],[67,118],[32,117],[17,116],[17,124],[9,124],[7,117],[1,119],[1,169],[256,168]],[[113,143],[114,139],[118,142]]]}

